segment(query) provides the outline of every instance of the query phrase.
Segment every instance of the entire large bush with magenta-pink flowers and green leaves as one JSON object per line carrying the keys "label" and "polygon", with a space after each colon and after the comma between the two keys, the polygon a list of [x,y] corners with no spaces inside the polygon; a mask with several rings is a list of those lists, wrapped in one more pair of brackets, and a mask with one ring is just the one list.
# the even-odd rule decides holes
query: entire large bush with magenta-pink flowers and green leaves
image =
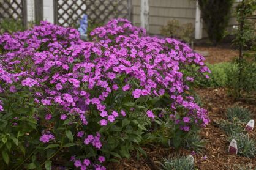
{"label": "entire large bush with magenta-pink flowers and green leaves", "polygon": [[143,141],[167,142],[154,135],[163,124],[175,147],[208,124],[189,84],[209,69],[186,43],[123,19],[79,37],[47,22],[0,35],[1,167],[105,169],[145,155]]}

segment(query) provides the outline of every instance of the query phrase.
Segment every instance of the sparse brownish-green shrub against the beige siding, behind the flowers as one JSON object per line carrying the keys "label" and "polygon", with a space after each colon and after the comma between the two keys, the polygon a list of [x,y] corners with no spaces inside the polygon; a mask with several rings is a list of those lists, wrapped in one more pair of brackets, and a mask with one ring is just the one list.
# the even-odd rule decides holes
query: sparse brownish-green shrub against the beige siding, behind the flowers
{"label": "sparse brownish-green shrub against the beige siding, behind the flowers", "polygon": [[160,30],[160,34],[166,37],[174,37],[190,43],[193,39],[194,28],[191,23],[179,24],[178,20],[170,20]]}

